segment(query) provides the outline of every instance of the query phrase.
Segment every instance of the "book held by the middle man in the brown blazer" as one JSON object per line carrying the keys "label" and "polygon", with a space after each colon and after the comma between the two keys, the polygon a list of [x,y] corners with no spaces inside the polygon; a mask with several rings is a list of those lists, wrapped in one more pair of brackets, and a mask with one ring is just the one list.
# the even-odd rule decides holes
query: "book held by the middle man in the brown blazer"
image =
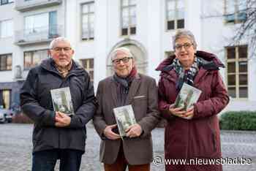
{"label": "book held by the middle man in the brown blazer", "polygon": [[126,105],[122,107],[116,107],[113,109],[118,131],[121,138],[126,136],[125,130],[136,123],[135,114],[132,110],[132,105]]}

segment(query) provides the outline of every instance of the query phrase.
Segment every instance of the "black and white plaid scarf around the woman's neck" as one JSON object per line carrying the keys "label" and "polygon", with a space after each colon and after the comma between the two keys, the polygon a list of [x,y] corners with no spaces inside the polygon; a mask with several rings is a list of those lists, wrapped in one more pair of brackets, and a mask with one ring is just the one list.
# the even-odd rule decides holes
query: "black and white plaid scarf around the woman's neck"
{"label": "black and white plaid scarf around the woman's neck", "polygon": [[197,58],[195,56],[194,63],[188,70],[184,70],[183,66],[181,66],[180,62],[178,61],[178,58],[175,58],[173,60],[173,68],[176,71],[178,75],[178,82],[176,83],[176,88],[178,90],[181,90],[181,87],[183,86],[183,83],[187,83],[190,86],[193,86],[195,75],[197,74],[200,66],[202,66],[203,61],[201,58]]}

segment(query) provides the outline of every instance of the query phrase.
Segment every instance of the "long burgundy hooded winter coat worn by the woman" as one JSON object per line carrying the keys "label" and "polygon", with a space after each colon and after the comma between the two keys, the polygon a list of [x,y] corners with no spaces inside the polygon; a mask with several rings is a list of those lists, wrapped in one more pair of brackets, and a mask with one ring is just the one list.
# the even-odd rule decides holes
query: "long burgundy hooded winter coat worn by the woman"
{"label": "long burgundy hooded winter coat worn by the woman", "polygon": [[[194,104],[194,117],[191,120],[170,114],[168,108],[178,95],[176,82],[178,75],[170,66],[175,56],[165,59],[157,70],[161,71],[159,80],[159,110],[167,119],[165,128],[165,159],[213,159],[220,158],[221,146],[219,120],[217,114],[227,105],[229,97],[219,74],[224,65],[217,56],[203,51],[195,54],[203,58],[203,66],[195,76],[194,86],[202,91]],[[219,165],[166,165],[166,170],[222,170]]]}

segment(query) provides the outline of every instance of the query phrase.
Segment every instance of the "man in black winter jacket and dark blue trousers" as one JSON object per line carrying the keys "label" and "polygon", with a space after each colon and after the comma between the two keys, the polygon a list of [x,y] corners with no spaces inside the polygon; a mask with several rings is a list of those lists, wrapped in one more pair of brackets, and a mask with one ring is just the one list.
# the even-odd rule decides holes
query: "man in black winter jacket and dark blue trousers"
{"label": "man in black winter jacket and dark blue trousers", "polygon": [[[88,73],[72,60],[67,39],[50,43],[51,58],[32,68],[20,92],[23,113],[34,121],[32,171],[79,170],[85,150],[86,123],[94,115],[96,99]],[[53,111],[50,91],[69,88],[74,115]]]}

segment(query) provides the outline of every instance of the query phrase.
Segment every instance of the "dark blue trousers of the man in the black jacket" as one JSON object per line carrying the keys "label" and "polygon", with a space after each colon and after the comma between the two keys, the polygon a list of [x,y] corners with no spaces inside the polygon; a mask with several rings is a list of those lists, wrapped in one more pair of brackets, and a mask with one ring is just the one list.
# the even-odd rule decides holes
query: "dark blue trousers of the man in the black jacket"
{"label": "dark blue trousers of the man in the black jacket", "polygon": [[53,149],[33,153],[32,171],[54,171],[57,159],[60,159],[60,171],[78,171],[83,151]]}

